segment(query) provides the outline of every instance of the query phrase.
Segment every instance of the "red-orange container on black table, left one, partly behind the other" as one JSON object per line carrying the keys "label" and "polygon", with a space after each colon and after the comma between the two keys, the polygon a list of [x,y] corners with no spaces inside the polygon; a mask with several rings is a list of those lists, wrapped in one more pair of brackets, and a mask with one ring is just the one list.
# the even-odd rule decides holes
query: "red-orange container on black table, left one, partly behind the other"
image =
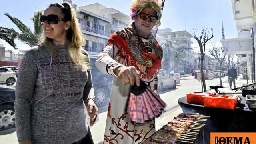
{"label": "red-orange container on black table, left one, partly behind the other", "polygon": [[214,94],[212,92],[192,92],[187,94],[187,102],[193,104],[204,104],[204,98],[206,94]]}

